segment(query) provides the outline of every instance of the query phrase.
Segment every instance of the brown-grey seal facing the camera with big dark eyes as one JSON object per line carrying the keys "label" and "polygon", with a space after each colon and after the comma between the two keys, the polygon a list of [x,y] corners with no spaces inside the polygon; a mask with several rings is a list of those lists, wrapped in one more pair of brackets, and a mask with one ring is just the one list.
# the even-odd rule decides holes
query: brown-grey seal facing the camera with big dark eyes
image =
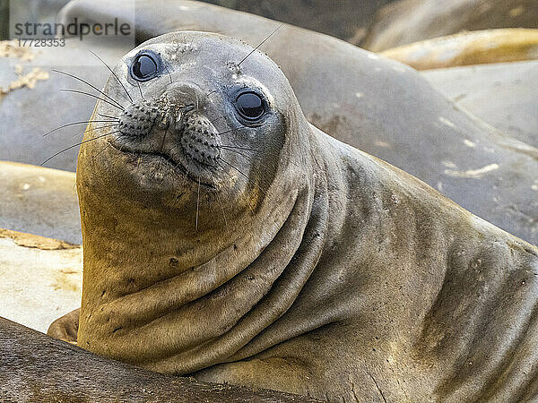
{"label": "brown-grey seal facing the camera with big dark eyes", "polygon": [[237,39],[170,33],[114,73],[77,169],[79,346],[328,400],[534,395],[534,246],[308,124]]}

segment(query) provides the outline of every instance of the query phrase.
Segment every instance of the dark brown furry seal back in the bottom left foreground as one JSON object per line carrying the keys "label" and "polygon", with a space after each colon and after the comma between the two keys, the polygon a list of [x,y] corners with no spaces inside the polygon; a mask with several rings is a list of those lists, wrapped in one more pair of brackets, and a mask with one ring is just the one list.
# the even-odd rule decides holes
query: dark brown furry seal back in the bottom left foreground
{"label": "dark brown furry seal back in the bottom left foreground", "polygon": [[273,390],[151,373],[95,356],[1,317],[0,356],[2,401],[313,401]]}

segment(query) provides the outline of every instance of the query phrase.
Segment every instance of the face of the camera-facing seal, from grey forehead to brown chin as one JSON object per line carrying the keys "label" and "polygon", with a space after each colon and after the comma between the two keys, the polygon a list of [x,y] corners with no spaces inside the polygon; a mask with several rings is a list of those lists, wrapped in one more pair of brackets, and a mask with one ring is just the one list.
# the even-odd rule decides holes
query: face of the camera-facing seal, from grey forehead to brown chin
{"label": "face of the camera-facing seal, from grey forehead to brown chin", "polygon": [[99,102],[92,117],[117,125],[98,133],[90,124],[85,140],[95,141],[81,152],[79,176],[91,165],[116,194],[129,189],[131,201],[146,207],[181,208],[200,194],[223,193],[239,210],[256,209],[293,140],[297,101],[280,69],[251,52],[200,32],[135,48],[104,90],[120,107]]}

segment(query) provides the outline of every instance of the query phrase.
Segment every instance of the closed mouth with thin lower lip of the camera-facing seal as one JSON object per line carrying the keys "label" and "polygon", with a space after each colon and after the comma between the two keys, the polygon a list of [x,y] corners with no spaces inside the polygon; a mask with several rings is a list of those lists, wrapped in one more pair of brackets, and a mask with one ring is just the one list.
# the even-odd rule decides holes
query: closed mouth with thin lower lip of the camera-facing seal
{"label": "closed mouth with thin lower lip of the camera-facing seal", "polygon": [[108,141],[108,144],[110,144],[114,150],[124,154],[127,157],[128,162],[134,167],[139,167],[140,164],[143,163],[149,163],[153,166],[157,166],[157,169],[168,169],[169,171],[171,170],[172,172],[175,172],[178,176],[187,177],[195,184],[201,184],[213,190],[216,189],[213,175],[211,178],[204,175],[196,176],[184,166],[184,163],[181,160],[174,159],[166,152],[155,150],[136,150],[134,148],[126,147],[125,145],[118,146],[114,141]]}

